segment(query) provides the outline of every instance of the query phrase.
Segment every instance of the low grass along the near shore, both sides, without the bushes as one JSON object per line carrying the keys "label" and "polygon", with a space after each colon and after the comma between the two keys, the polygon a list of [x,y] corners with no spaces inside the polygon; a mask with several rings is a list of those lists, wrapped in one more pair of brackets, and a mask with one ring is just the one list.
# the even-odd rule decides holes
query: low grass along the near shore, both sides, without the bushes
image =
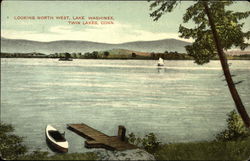
{"label": "low grass along the near shore, both sides, without the bushes", "polygon": [[[34,152],[21,160],[98,160],[95,153],[67,153],[48,156]],[[241,141],[190,142],[160,145],[153,154],[156,160],[247,160],[250,157],[250,137]]]}

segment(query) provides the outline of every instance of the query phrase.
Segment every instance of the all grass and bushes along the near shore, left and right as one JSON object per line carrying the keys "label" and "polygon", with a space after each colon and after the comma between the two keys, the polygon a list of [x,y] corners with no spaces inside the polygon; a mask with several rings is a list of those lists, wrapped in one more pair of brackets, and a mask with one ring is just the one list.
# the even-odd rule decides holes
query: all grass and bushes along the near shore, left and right
{"label": "all grass and bushes along the near shore, left and right", "polygon": [[[0,154],[7,160],[98,160],[94,152],[49,155],[34,151],[28,154],[23,138],[13,134],[14,128],[0,122]],[[149,133],[144,138],[130,133],[127,141],[145,149],[156,160],[247,160],[250,158],[250,130],[247,129],[235,110],[228,114],[227,128],[214,141],[162,144],[156,135]],[[130,158],[133,159],[133,158]]]}

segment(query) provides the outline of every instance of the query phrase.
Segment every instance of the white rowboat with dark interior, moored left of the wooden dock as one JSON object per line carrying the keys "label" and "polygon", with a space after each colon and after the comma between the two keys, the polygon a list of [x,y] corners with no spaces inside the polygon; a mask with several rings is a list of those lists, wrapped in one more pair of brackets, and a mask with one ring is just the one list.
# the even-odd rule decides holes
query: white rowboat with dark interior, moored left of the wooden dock
{"label": "white rowboat with dark interior, moored left of the wooden dock", "polygon": [[64,135],[51,125],[47,125],[45,130],[46,141],[53,151],[66,153],[68,152],[69,144]]}

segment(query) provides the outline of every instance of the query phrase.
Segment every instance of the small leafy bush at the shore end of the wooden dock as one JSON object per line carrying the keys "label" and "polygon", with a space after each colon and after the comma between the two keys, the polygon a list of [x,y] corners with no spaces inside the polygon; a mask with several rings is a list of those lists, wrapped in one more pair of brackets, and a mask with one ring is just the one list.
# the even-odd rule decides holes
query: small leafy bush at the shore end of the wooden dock
{"label": "small leafy bush at the shore end of the wooden dock", "polygon": [[145,135],[144,138],[135,137],[134,133],[130,133],[128,135],[128,142],[141,147],[152,154],[155,153],[160,146],[160,142],[154,133],[149,133]]}

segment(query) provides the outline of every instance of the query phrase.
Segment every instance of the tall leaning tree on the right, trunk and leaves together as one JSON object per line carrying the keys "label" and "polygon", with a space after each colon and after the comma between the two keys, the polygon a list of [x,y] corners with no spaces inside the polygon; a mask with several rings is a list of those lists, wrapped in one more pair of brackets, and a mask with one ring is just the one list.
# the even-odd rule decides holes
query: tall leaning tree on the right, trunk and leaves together
{"label": "tall leaning tree on the right, trunk and leaves together", "polygon": [[[180,3],[176,0],[156,0],[151,3],[150,7],[151,9],[158,8],[150,16],[154,18],[154,21],[157,21],[164,13],[172,12]],[[195,28],[189,29],[180,25],[179,32],[181,37],[195,40],[193,44],[186,46],[188,55],[195,59],[195,63],[208,63],[211,58],[218,54],[236,109],[245,126],[250,128],[250,118],[235,87],[227,58],[223,52],[223,50],[233,46],[244,50],[249,45],[245,43],[245,39],[249,40],[250,31],[242,31],[244,23],[240,20],[247,18],[250,12],[226,10],[225,7],[231,4],[233,4],[231,0],[221,2],[198,0],[187,9],[183,16],[183,22],[187,23],[189,20],[193,20]]]}

